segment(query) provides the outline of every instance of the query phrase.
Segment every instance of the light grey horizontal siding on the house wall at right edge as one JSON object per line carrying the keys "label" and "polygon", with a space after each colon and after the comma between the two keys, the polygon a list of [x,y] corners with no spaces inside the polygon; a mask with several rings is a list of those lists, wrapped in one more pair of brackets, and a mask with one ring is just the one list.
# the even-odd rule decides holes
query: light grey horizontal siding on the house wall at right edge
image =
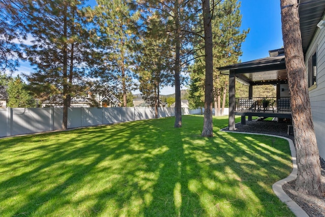
{"label": "light grey horizontal siding on the house wall at right edge", "polygon": [[[322,19],[325,19],[325,17]],[[306,52],[307,75],[308,59],[313,55],[314,51],[316,51],[317,64],[316,86],[310,88],[309,97],[319,155],[325,159],[325,28],[317,28]]]}

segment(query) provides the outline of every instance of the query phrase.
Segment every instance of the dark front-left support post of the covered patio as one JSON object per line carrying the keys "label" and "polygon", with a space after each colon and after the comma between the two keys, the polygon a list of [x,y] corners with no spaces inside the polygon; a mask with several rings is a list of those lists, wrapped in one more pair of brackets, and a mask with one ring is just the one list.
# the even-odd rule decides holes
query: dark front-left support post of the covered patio
{"label": "dark front-left support post of the covered patio", "polygon": [[229,130],[235,130],[235,70],[229,72]]}

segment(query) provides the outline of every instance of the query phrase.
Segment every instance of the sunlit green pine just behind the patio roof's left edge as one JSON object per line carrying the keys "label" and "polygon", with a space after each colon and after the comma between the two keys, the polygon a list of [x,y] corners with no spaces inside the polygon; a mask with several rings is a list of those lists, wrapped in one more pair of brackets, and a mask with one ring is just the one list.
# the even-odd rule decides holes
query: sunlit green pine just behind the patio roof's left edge
{"label": "sunlit green pine just behind the patio roof's left edge", "polygon": [[[218,5],[215,10],[213,24],[213,60],[214,60],[214,85],[213,94],[215,102],[215,115],[223,115],[226,93],[228,90],[228,76],[222,76],[216,69],[219,66],[238,63],[242,55],[241,43],[245,40],[249,29],[240,31],[242,15],[240,2],[226,0]],[[221,106],[222,98],[222,106]]]}

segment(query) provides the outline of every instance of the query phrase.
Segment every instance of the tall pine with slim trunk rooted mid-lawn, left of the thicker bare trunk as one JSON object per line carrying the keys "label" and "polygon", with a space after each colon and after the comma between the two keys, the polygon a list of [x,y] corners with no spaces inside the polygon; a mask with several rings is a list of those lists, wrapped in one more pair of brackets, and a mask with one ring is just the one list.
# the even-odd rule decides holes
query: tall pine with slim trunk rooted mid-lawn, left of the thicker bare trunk
{"label": "tall pine with slim trunk rooted mid-lawn, left of the thicker bare trunk", "polygon": [[181,114],[181,83],[182,73],[186,70],[194,50],[192,43],[196,34],[198,14],[201,7],[197,1],[168,0],[168,1],[137,1],[147,17],[156,16],[161,25],[152,29],[152,33],[169,40],[171,56],[166,57],[170,62],[170,71],[173,71],[175,86],[175,123],[174,127],[182,126]]}

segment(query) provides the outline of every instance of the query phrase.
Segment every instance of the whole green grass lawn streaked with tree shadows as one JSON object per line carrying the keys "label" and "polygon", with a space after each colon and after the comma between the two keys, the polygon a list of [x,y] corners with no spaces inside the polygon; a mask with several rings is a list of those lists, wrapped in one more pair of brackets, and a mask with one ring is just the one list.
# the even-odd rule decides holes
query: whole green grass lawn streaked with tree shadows
{"label": "whole green grass lawn streaked with tree shadows", "polygon": [[272,191],[288,142],[203,116],[0,139],[1,216],[294,216]]}

